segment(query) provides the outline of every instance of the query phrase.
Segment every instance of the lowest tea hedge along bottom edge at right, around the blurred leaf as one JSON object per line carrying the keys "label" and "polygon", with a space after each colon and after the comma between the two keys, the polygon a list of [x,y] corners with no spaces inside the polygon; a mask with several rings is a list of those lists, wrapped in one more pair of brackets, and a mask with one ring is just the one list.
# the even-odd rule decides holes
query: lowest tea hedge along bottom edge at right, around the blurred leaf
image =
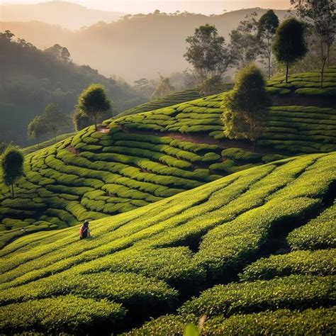
{"label": "lowest tea hedge along bottom edge at right, around the blurred leaf", "polygon": [[[335,308],[307,310],[279,309],[262,313],[218,316],[206,320],[202,335],[321,335],[335,331]],[[194,315],[165,315],[131,330],[127,335],[184,335],[187,323],[196,323]]]}

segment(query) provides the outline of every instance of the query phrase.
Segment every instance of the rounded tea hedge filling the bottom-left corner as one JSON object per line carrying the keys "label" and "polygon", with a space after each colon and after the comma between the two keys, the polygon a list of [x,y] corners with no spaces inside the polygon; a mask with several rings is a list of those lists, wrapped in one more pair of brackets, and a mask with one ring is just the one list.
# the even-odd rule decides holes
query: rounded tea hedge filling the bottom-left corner
{"label": "rounded tea hedge filling the bottom-left corner", "polygon": [[111,329],[125,315],[118,303],[71,295],[11,304],[1,307],[0,312],[0,330],[5,333],[103,331]]}

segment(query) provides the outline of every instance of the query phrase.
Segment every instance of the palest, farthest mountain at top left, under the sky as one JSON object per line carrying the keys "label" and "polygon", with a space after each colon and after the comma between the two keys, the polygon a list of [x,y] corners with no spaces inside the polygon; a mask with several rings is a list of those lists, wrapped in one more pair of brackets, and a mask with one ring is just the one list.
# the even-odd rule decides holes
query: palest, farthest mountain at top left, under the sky
{"label": "palest, farthest mountain at top left, under the sky", "polygon": [[67,1],[40,4],[0,4],[1,21],[42,21],[64,28],[79,29],[99,21],[115,21],[124,13],[88,9]]}

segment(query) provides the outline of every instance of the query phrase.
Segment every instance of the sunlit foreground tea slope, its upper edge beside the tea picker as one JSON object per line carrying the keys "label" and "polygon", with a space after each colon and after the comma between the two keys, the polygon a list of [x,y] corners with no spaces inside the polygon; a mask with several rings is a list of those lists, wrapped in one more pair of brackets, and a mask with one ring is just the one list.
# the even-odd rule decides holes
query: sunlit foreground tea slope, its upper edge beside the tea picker
{"label": "sunlit foreground tea slope, its upper edge beside the tea picker", "polygon": [[303,155],[95,220],[90,240],[21,237],[0,251],[0,332],[107,335],[170,313],[131,334],[179,335],[206,313],[203,335],[335,334],[335,181],[335,153]]}

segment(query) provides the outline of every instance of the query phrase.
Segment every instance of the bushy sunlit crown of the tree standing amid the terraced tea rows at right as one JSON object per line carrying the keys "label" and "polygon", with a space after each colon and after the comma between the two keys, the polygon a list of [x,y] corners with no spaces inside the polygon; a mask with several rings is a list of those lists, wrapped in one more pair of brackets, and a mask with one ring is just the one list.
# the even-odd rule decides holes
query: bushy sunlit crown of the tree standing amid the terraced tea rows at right
{"label": "bushy sunlit crown of the tree standing amid the terraced tea rows at right", "polygon": [[237,82],[223,100],[224,134],[228,138],[259,138],[268,116],[269,97],[262,72],[249,65],[242,69]]}

